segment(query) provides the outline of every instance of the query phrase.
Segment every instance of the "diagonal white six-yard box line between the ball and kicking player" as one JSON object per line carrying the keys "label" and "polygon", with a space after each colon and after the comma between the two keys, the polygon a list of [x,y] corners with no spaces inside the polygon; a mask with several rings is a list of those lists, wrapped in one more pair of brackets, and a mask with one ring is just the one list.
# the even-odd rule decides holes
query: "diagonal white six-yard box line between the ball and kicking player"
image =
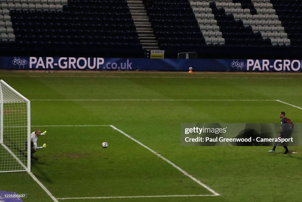
{"label": "diagonal white six-yard box line between the ball and kicking player", "polygon": [[206,188],[207,190],[209,190],[210,192],[212,192],[215,196],[219,196],[220,194],[218,194],[217,192],[215,192],[214,190],[212,190],[210,187],[208,187],[207,185],[203,184],[202,182],[200,182],[199,180],[197,180],[195,177],[193,177],[192,175],[188,174],[186,171],[182,170],[180,167],[178,167],[177,165],[175,165],[174,163],[172,163],[171,161],[169,161],[168,159],[166,159],[165,157],[163,157],[162,155],[158,154],[156,151],[150,149],[149,147],[147,147],[146,145],[144,145],[143,143],[141,143],[140,141],[137,141],[136,139],[134,139],[133,137],[131,137],[130,135],[124,133],[123,131],[121,131],[120,129],[114,127],[113,125],[111,125],[110,127],[112,127],[114,130],[119,131],[121,134],[125,135],[126,137],[130,138],[131,140],[135,141],[137,144],[145,147],[147,150],[151,151],[153,154],[155,154],[156,156],[160,157],[161,159],[163,159],[164,161],[168,162],[169,164],[171,164],[173,167],[175,167],[178,171],[181,171],[184,175],[190,177],[192,180],[194,180],[194,182],[200,184],[201,186],[203,186],[204,188]]}

